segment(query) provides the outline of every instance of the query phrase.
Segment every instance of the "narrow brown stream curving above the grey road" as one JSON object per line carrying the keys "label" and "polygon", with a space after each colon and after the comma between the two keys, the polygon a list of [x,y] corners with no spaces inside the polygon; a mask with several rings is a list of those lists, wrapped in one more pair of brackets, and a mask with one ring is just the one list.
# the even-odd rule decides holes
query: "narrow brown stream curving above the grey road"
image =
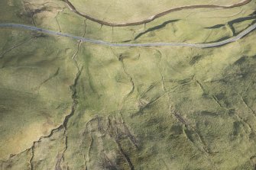
{"label": "narrow brown stream curving above the grey road", "polygon": [[76,7],[69,0],[63,0],[63,2],[66,2],[66,4],[69,6],[71,11],[75,12],[76,14],[79,14],[80,16],[82,16],[86,19],[89,19],[91,21],[95,21],[95,22],[97,22],[99,24],[102,24],[102,25],[111,26],[111,27],[125,27],[125,26],[132,26],[132,25],[147,24],[151,21],[154,21],[156,18],[160,18],[160,17],[162,17],[166,14],[169,14],[173,11],[180,11],[180,10],[183,10],[183,9],[193,9],[193,8],[235,8],[235,7],[239,7],[239,6],[242,6],[242,5],[246,5],[249,2],[251,2],[251,0],[244,0],[242,2],[238,2],[237,4],[228,5],[228,6],[221,6],[221,5],[188,5],[188,6],[178,7],[178,8],[171,8],[167,11],[163,11],[163,12],[160,12],[158,14],[154,14],[150,18],[147,18],[143,21],[130,22],[130,23],[112,23],[112,22],[100,20],[98,18],[93,18],[89,14],[83,14],[82,12],[77,11]]}

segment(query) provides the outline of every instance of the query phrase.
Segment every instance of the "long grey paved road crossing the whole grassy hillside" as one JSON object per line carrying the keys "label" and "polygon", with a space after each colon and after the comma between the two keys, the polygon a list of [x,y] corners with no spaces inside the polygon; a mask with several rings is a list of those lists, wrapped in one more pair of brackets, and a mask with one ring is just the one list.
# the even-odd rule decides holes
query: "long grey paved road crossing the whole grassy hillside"
{"label": "long grey paved road crossing the whole grassy hillside", "polygon": [[94,40],[85,37],[77,37],[71,34],[60,33],[53,30],[47,30],[40,27],[33,27],[24,24],[0,24],[0,27],[10,27],[10,28],[19,28],[24,30],[34,30],[37,32],[41,32],[44,34],[57,35],[61,37],[70,37],[76,40],[82,40],[83,42],[88,43],[96,43],[99,45],[109,46],[109,47],[196,47],[196,48],[209,48],[209,47],[219,47],[225,45],[227,43],[235,42],[236,40],[240,40],[245,35],[249,34],[251,31],[255,30],[256,23],[251,25],[250,27],[243,30],[240,34],[235,37],[228,38],[227,40],[222,40],[216,43],[109,43],[103,40]]}

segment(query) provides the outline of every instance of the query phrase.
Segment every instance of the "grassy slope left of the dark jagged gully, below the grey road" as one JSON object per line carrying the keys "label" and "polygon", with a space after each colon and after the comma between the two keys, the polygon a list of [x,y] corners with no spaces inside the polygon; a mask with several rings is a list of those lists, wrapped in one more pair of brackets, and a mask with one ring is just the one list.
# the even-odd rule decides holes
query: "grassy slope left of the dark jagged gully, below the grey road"
{"label": "grassy slope left of the dark jagged gully, below the grey road", "polygon": [[[2,30],[2,37],[9,35],[4,49],[12,50],[0,62],[1,134],[5,139],[1,140],[1,158],[27,149],[63,122],[70,114],[70,85],[77,72],[70,59],[73,51],[64,45],[70,40],[57,41],[54,37],[34,37],[17,31],[28,38],[15,40],[15,30]],[[25,43],[16,47],[15,41]],[[57,42],[64,46],[59,47]]]}

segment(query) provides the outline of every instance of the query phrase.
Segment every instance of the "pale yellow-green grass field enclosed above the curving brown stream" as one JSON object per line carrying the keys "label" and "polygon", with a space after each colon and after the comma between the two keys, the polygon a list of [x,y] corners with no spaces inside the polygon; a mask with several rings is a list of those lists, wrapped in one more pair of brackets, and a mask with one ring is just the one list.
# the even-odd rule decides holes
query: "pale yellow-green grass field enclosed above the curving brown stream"
{"label": "pale yellow-green grass field enclosed above the curving brown stream", "polygon": [[[151,1],[146,0],[139,1],[99,1],[99,0],[70,0],[70,2],[76,7],[77,11],[84,14],[89,14],[94,18],[99,18],[104,21],[111,21],[114,23],[134,22],[141,21],[150,18],[152,15],[167,11],[170,8],[177,8],[185,5],[232,5],[238,3],[235,0],[232,2],[228,1],[215,1],[206,2],[203,0],[196,1]],[[143,6],[143,8],[141,8]],[[97,7],[97,8],[95,8]]]}

